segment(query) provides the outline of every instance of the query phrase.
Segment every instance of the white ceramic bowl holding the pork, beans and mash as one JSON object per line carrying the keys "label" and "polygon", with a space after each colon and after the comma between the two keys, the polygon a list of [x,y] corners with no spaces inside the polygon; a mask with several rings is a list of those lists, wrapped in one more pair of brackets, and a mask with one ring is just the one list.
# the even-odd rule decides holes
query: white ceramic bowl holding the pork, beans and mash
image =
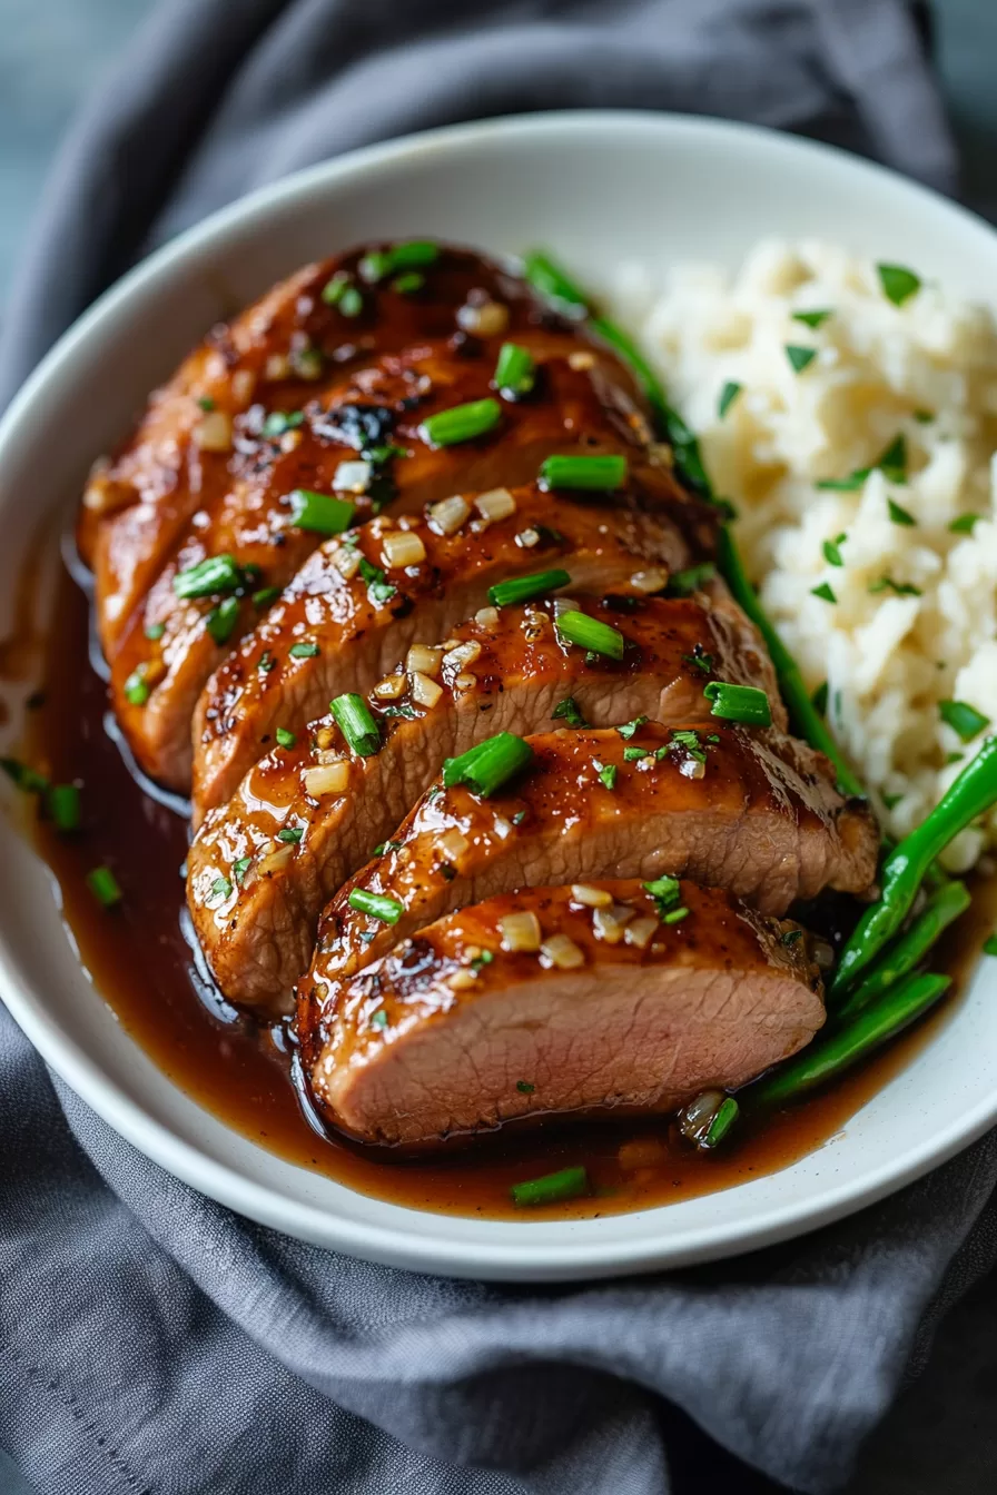
{"label": "white ceramic bowl holding the pork, beans and mash", "polygon": [[[87,312],[0,426],[0,598],[42,514],[57,534],[93,456],[220,317],[309,259],[419,235],[547,244],[583,283],[619,260],[737,262],[762,235],[819,235],[987,300],[997,235],[891,173],[788,136],[650,114],[553,114],[359,151],[217,214]],[[9,622],[4,619],[3,622]],[[0,628],[0,635],[3,629]],[[16,724],[15,724],[16,727]],[[353,1193],[262,1151],[176,1090],[79,969],[49,873],[3,828],[0,994],[106,1121],[214,1199],[291,1235],[453,1275],[568,1278],[717,1257],[882,1197],[997,1121],[997,963],[845,1132],[803,1162],[667,1208],[565,1223],[462,1220]]]}

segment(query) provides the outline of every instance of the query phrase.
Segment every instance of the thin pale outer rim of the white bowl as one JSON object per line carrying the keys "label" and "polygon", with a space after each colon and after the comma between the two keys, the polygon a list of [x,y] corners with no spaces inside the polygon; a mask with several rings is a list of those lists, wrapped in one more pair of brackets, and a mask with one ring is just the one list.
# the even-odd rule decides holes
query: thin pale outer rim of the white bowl
{"label": "thin pale outer rim of the white bowl", "polygon": [[[565,135],[593,129],[620,138],[634,130],[649,135],[658,133],[662,144],[667,138],[671,147],[680,145],[683,139],[692,136],[700,141],[706,138],[717,150],[749,138],[759,150],[771,152],[773,158],[780,152],[785,158],[806,157],[813,160],[816,155],[825,161],[830,160],[831,166],[855,178],[888,181],[894,187],[900,182],[915,199],[921,199],[928,211],[948,218],[955,233],[985,236],[991,253],[996,248],[997,233],[990,224],[933,188],[907,181],[879,163],[851,155],[837,147],[782,135],[762,126],[640,109],[550,111],[444,126],[362,147],[297,170],[236,199],[152,251],[105,290],[28,375],[0,419],[0,462],[3,462],[6,447],[18,438],[28,408],[39,398],[45,398],[48,387],[60,375],[72,372],[73,365],[85,356],[90,344],[100,338],[105,326],[127,314],[132,302],[148,290],[154,292],[155,283],[163,275],[181,269],[185,262],[196,259],[206,247],[223,245],[230,235],[241,235],[254,223],[268,220],[272,214],[293,206],[317,191],[324,191],[357,176],[377,173],[383,167],[393,170],[399,163],[426,154],[474,150],[480,144],[496,139],[556,141]],[[607,1239],[599,1242],[592,1239],[572,1241],[570,1227],[578,1221],[565,1221],[564,1241],[531,1244],[529,1221],[523,1221],[522,1227],[517,1224],[520,1239],[516,1244],[495,1242],[487,1239],[487,1233],[483,1233],[483,1239],[471,1247],[466,1241],[448,1238],[447,1221],[451,1217],[445,1214],[435,1215],[439,1221],[439,1230],[435,1236],[407,1233],[401,1217],[398,1226],[348,1220],[320,1205],[291,1199],[283,1195],[280,1187],[256,1183],[236,1168],[208,1156],[179,1138],[169,1126],[133,1100],[102,1070],[91,1054],[61,1029],[46,1009],[43,997],[34,994],[31,979],[27,972],[19,969],[1,927],[0,1000],[45,1061],[93,1111],[129,1144],[185,1184],[236,1212],[284,1233],[390,1266],[451,1277],[571,1280],[625,1275],[756,1250],[792,1235],[815,1230],[874,1203],[946,1162],[997,1121],[996,1091],[991,1100],[982,1100],[924,1144],[912,1145],[906,1153],[883,1159],[877,1168],[858,1180],[830,1184],[816,1208],[806,1196],[798,1200],[788,1199],[756,1209],[746,1226],[731,1223],[713,1227],[697,1224],[688,1229],[674,1229],[665,1227],[662,1223],[661,1235],[653,1239],[637,1236],[634,1241]],[[138,1045],[138,1041],[133,1039],[133,1042]],[[175,1088],[185,1094],[181,1087]],[[193,1097],[185,1096],[185,1099],[197,1105]],[[405,1214],[411,1212],[405,1206],[398,1208]],[[668,1208],[655,1206],[611,1218],[634,1218]],[[665,1218],[662,1214],[662,1221]]]}

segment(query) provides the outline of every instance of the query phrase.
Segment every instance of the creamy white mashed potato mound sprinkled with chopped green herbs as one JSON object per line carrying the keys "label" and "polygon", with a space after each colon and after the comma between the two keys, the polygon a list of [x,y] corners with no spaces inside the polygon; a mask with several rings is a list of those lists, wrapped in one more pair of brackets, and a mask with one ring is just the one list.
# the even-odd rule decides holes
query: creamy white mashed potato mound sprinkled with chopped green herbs
{"label": "creamy white mashed potato mound sprinkled with chopped green herbs", "polygon": [[[927,281],[895,305],[873,263],[809,242],[762,242],[734,275],[625,268],[613,312],[700,434],[768,614],[904,834],[997,722],[993,314]],[[949,866],[988,842],[997,813]]]}

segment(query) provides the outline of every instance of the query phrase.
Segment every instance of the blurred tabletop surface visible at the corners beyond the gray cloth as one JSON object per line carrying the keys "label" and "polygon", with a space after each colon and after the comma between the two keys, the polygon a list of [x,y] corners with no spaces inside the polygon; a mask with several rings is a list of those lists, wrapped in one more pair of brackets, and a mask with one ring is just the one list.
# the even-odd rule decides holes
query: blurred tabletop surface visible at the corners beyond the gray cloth
{"label": "blurred tabletop surface visible at the corners beyond the gray cloth", "polygon": [[[0,0],[0,306],[60,135],[154,0]],[[934,0],[936,46],[969,202],[997,220],[997,0]],[[982,1284],[873,1440],[852,1495],[997,1489],[997,1310]],[[729,1485],[737,1495],[735,1485]],[[0,1450],[0,1492],[30,1495]],[[85,1492],[81,1492],[85,1495]],[[191,1492],[194,1495],[194,1492]]]}

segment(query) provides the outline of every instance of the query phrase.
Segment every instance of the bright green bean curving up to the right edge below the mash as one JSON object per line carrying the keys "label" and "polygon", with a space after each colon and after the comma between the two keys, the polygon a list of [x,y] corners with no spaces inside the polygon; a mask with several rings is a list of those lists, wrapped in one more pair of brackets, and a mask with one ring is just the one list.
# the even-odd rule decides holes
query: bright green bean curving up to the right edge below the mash
{"label": "bright green bean curving up to the right edge below the mash", "polygon": [[880,873],[879,903],[861,916],[842,951],[831,982],[833,996],[855,985],[858,973],[873,963],[903,924],[934,858],[996,800],[997,737],[988,737],[931,813],[886,857]]}

